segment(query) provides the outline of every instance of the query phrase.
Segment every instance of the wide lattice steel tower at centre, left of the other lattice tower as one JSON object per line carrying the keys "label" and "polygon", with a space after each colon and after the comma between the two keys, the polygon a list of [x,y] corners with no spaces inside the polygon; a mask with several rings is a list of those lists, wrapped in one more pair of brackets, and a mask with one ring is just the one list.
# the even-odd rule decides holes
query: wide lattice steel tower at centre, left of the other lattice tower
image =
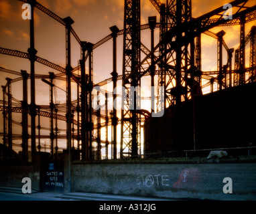
{"label": "wide lattice steel tower at centre, left of the other lattice tower", "polygon": [[[140,146],[139,134],[141,121],[136,112],[139,107],[139,104],[136,102],[137,96],[139,96],[137,86],[140,86],[140,9],[140,0],[125,0],[122,83],[125,91],[123,91],[121,110],[121,144],[123,144],[125,148],[128,148],[128,154],[131,156],[137,156],[138,148]],[[131,80],[125,82],[126,75],[131,72],[134,72],[131,76]],[[129,86],[134,89],[134,95],[128,100],[127,97],[129,97],[129,92],[131,90]],[[125,148],[123,147],[123,150],[125,150]]]}

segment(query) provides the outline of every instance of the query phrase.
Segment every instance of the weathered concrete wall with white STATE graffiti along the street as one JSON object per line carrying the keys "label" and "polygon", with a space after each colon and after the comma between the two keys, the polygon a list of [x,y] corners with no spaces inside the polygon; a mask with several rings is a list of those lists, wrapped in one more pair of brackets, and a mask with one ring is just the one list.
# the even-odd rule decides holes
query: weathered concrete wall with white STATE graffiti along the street
{"label": "weathered concrete wall with white STATE graffiti along the street", "polygon": [[[72,191],[166,198],[256,200],[256,163],[72,165]],[[233,193],[225,194],[225,177]]]}

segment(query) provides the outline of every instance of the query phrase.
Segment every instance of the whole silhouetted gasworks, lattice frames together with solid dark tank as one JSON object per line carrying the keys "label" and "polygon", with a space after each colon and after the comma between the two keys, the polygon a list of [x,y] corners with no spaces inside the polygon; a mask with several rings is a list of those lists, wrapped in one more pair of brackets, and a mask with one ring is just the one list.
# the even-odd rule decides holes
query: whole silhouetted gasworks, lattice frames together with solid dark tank
{"label": "whole silhouetted gasworks, lattice frames together with solid dark tank", "polygon": [[[232,1],[232,19],[226,19],[225,7],[220,7],[192,17],[191,0],[149,0],[160,20],[149,17],[149,23],[141,25],[140,0],[124,0],[124,27],[119,30],[110,27],[111,34],[97,43],[81,41],[72,28],[74,21],[70,17],[62,19],[36,0],[20,0],[31,5],[30,47],[27,53],[0,47],[0,54],[26,58],[30,61],[30,71],[16,72],[0,68],[1,72],[15,74],[15,79],[7,78],[2,86],[3,100],[0,110],[3,112],[3,148],[5,158],[12,158],[13,140],[21,139],[19,144],[23,161],[28,159],[28,150],[33,157],[43,149],[42,139],[50,139],[51,157],[58,155],[58,139],[66,139],[66,150],[75,152],[81,160],[103,158],[131,158],[151,152],[181,151],[184,149],[219,148],[222,146],[246,146],[255,142],[255,114],[253,98],[255,96],[256,47],[255,29],[245,35],[245,25],[256,19],[256,5],[248,6],[253,0]],[[66,29],[66,67],[62,68],[37,56],[34,45],[34,9],[39,9],[58,21]],[[212,33],[213,27],[240,25],[240,46],[237,49],[227,47],[223,36],[225,31]],[[155,44],[155,28],[159,28],[159,43]],[[150,29],[151,47],[146,47],[141,31]],[[218,70],[202,71],[201,35],[214,37],[218,47]],[[76,68],[71,65],[71,36],[80,45],[80,59]],[[117,37],[123,36],[123,72],[117,73]],[[93,51],[103,43],[113,39],[113,72],[108,80],[93,82]],[[245,47],[250,45],[249,67],[245,66]],[[223,49],[224,47],[224,49]],[[223,51],[227,51],[227,64],[223,64]],[[233,64],[235,54],[235,64]],[[49,75],[36,74],[35,63],[39,62],[56,71]],[[88,68],[88,70],[86,70]],[[22,69],[22,68],[21,68]],[[139,87],[145,76],[150,76],[151,86],[157,82],[157,95],[151,92],[151,112],[141,110],[136,100],[141,94]],[[30,79],[30,104],[27,100],[27,80]],[[49,106],[36,104],[35,80],[42,79],[50,86]],[[66,103],[54,102],[54,82],[66,82]],[[110,111],[108,92],[94,92],[94,86],[104,86],[122,81],[125,88],[122,94],[121,116],[117,110]],[[207,80],[202,84],[202,80]],[[15,99],[11,92],[13,82],[22,81],[23,100]],[[76,83],[76,88],[72,86]],[[203,95],[203,89],[210,87],[210,94]],[[161,90],[164,88],[164,90]],[[131,90],[133,91],[133,96]],[[72,90],[77,97],[72,98]],[[92,100],[99,93],[106,96],[105,111],[94,110]],[[55,96],[56,97],[56,96]],[[113,95],[115,102],[116,95]],[[164,102],[161,102],[164,98]],[[134,108],[129,108],[133,106]],[[151,117],[151,113],[164,111],[161,118]],[[12,117],[14,112],[22,114],[22,122]],[[49,134],[42,135],[41,117],[50,118]],[[30,122],[29,122],[30,121]],[[66,130],[60,130],[60,122],[66,122]],[[22,133],[13,134],[12,124],[22,126]],[[117,146],[117,126],[121,127],[120,148]],[[145,139],[141,130],[145,126]],[[105,138],[102,138],[105,128]],[[111,142],[109,142],[111,128]],[[61,132],[66,132],[61,134]],[[30,133],[30,134],[29,134]],[[234,134],[235,133],[235,134]],[[75,143],[75,141],[77,143]],[[118,151],[119,150],[119,151]]]}

